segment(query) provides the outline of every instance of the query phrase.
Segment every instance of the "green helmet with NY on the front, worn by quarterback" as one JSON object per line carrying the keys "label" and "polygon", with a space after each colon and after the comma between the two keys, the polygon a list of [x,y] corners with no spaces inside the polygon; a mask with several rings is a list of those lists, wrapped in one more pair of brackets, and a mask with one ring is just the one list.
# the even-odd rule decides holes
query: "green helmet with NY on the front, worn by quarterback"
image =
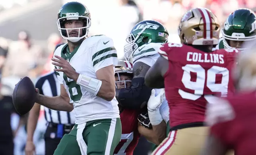
{"label": "green helmet with NY on the front, worn by quarterback", "polygon": [[[65,28],[64,23],[67,20],[82,20],[84,25],[81,28]],[[58,30],[62,38],[70,42],[78,42],[85,38],[91,26],[91,14],[87,7],[79,2],[68,2],[64,4],[58,11],[57,19]],[[79,30],[78,37],[69,37],[68,30]],[[80,37],[80,33],[82,36]]]}

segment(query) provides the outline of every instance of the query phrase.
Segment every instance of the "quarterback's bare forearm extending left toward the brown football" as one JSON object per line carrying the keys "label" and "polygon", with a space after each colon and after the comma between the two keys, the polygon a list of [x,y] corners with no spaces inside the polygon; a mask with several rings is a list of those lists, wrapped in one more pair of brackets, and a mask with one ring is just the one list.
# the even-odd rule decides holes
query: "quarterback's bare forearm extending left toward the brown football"
{"label": "quarterback's bare forearm extending left toward the brown football", "polygon": [[48,97],[37,95],[36,102],[52,110],[71,112],[74,107],[63,96]]}

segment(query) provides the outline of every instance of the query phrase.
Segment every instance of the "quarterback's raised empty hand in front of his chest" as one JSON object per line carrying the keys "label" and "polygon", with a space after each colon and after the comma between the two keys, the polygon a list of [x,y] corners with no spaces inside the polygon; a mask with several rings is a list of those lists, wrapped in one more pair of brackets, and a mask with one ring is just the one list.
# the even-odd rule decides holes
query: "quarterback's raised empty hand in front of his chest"
{"label": "quarterback's raised empty hand in front of his chest", "polygon": [[76,70],[74,70],[74,68],[70,65],[70,63],[67,60],[57,55],[54,55],[54,57],[57,59],[52,58],[52,61],[54,61],[52,62],[52,64],[59,67],[59,68],[54,68],[54,71],[63,72],[64,74],[66,74],[68,78],[73,79],[74,81],[77,81],[79,73],[77,73]]}

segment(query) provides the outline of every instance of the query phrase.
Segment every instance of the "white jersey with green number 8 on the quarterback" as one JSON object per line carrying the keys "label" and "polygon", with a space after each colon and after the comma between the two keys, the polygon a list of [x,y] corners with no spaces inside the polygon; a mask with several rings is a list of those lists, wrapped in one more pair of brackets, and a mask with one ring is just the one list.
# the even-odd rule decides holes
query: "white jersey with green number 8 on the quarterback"
{"label": "white jersey with green number 8 on the quarterback", "polygon": [[[58,55],[71,64],[79,74],[97,78],[97,70],[117,65],[117,53],[111,38],[103,35],[91,36],[83,40],[73,52],[66,53],[68,44],[58,47],[54,55]],[[58,66],[56,66],[58,67]],[[58,81],[63,84],[74,106],[76,124],[93,121],[96,119],[118,118],[119,109],[116,98],[110,102],[93,96],[85,88],[69,79],[63,72],[58,72]]]}

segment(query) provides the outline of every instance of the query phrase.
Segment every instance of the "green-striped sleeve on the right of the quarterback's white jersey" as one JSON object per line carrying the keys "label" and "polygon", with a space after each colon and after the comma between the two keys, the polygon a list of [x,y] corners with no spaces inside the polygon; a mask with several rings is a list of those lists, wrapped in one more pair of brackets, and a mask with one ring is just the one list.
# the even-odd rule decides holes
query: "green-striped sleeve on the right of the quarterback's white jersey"
{"label": "green-striped sleeve on the right of the quarterback's white jersey", "polygon": [[117,65],[117,52],[111,38],[102,36],[101,39],[99,39],[93,50],[92,63],[95,72],[110,65]]}

